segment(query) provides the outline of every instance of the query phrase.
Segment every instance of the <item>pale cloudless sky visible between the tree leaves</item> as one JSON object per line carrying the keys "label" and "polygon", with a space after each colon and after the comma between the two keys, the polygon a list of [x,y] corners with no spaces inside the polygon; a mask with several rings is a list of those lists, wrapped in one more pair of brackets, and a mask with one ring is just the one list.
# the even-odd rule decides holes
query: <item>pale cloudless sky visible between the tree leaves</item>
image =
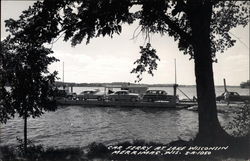
{"label": "pale cloudless sky visible between the tree leaves", "polygon": [[[1,40],[8,35],[4,20],[17,19],[21,12],[32,5],[34,1],[1,1]],[[54,51],[53,56],[60,62],[53,63],[49,70],[58,71],[59,81],[62,81],[64,62],[64,81],[76,83],[110,83],[134,82],[136,75],[131,74],[133,64],[140,57],[139,46],[145,45],[144,35],[133,38],[138,24],[124,25],[120,35],[99,37],[86,41],[75,47],[70,42],[59,39],[49,45]],[[217,53],[218,63],[214,63],[215,85],[239,85],[249,79],[249,25],[238,27],[231,31],[236,39],[236,45],[224,53]],[[177,42],[167,35],[151,35],[151,44],[156,49],[160,61],[154,76],[145,73],[140,83],[172,84],[175,82],[174,60],[176,59],[177,83],[195,85],[194,63],[188,55],[178,50]]]}

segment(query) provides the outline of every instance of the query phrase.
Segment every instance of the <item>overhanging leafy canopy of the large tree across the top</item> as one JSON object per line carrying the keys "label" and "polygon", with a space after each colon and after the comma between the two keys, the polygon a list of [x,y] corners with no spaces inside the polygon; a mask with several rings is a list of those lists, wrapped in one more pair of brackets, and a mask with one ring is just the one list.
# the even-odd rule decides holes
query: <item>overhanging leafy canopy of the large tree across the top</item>
{"label": "overhanging leafy canopy of the large tree across the top", "polygon": [[[137,5],[141,8],[131,10],[131,7]],[[146,39],[149,40],[149,33],[169,35],[178,41],[180,51],[193,58],[190,14],[196,6],[208,5],[213,6],[210,40],[215,60],[215,53],[223,52],[235,43],[229,31],[236,26],[248,24],[248,1],[45,0],[23,11],[18,20],[7,20],[6,26],[8,31],[15,33],[15,39],[43,44],[53,43],[54,38],[64,36],[65,41],[71,40],[72,46],[75,46],[84,38],[89,43],[94,37],[120,34],[122,24],[138,21],[141,31],[146,33]],[[144,56],[150,59],[150,54]],[[154,63],[150,65],[150,68],[155,69]],[[134,69],[142,70],[144,67],[141,64]],[[152,74],[151,70],[148,72]]]}

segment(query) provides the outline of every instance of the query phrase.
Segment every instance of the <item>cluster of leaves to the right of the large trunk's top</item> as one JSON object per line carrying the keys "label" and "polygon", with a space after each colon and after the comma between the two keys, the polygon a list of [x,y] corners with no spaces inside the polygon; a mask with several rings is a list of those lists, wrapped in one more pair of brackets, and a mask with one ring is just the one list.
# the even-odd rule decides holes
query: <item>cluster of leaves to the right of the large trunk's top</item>
{"label": "cluster of leaves to the right of the large trunk's top", "polygon": [[215,4],[210,26],[213,56],[234,46],[236,40],[232,38],[234,35],[230,34],[230,30],[249,23],[249,5],[249,1],[218,1]]}

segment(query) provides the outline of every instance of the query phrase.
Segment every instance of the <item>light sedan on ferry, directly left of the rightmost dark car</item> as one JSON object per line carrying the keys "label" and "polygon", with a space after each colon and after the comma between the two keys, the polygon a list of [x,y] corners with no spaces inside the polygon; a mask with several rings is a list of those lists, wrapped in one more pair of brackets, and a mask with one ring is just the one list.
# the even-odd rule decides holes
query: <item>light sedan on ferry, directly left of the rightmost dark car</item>
{"label": "light sedan on ferry, directly left of the rightmost dark car", "polygon": [[140,96],[137,93],[129,93],[127,90],[116,91],[108,95],[110,101],[131,101],[136,102],[140,100]]}

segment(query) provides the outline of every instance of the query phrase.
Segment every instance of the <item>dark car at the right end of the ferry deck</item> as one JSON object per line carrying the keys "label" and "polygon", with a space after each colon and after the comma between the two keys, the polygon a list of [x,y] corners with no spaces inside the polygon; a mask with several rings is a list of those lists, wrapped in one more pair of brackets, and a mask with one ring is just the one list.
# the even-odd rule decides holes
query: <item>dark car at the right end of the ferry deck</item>
{"label": "dark car at the right end of the ferry deck", "polygon": [[144,94],[143,101],[146,102],[155,102],[155,101],[178,101],[178,98],[175,98],[173,95],[168,95],[164,90],[147,90]]}

